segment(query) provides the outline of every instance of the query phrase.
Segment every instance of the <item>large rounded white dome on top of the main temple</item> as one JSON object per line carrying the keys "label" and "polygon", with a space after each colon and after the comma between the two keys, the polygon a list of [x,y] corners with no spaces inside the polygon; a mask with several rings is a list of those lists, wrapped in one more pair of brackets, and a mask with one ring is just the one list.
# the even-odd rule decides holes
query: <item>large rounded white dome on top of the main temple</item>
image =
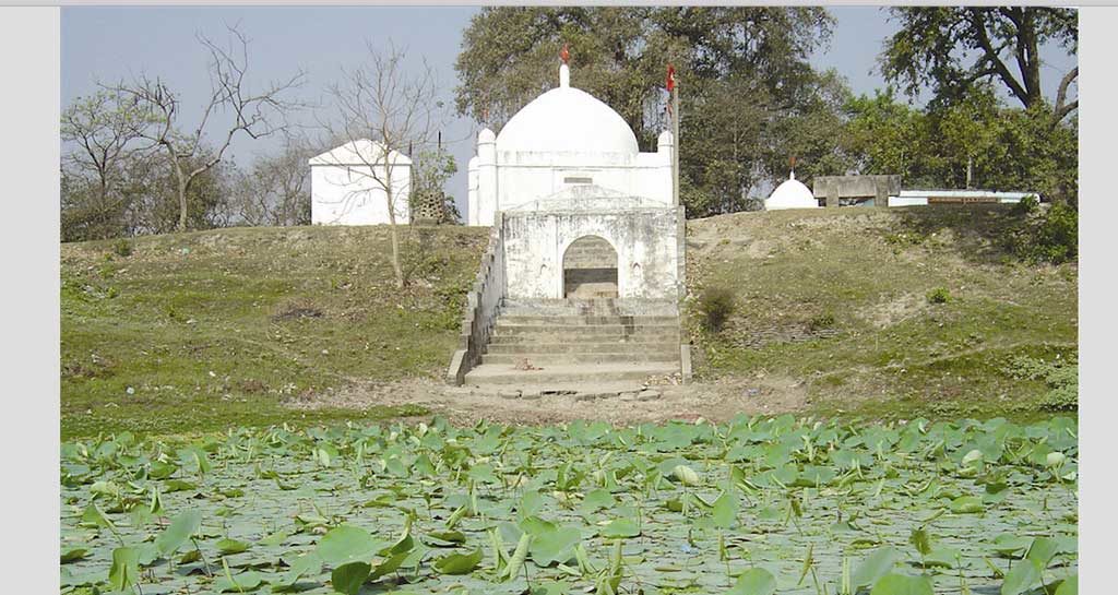
{"label": "large rounded white dome on top of the main temple", "polygon": [[589,93],[562,84],[517,112],[498,134],[496,148],[629,154],[639,151],[625,119]]}

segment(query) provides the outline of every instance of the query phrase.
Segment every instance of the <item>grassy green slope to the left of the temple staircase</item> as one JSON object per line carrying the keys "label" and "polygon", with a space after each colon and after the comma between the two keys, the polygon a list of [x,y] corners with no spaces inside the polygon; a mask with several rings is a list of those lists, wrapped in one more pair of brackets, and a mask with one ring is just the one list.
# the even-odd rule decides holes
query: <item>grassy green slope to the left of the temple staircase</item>
{"label": "grassy green slope to the left of the temple staircase", "polygon": [[[236,228],[61,248],[63,436],[372,421],[418,407],[293,412],[354,381],[442,374],[483,230]],[[131,390],[130,390],[131,389]]]}

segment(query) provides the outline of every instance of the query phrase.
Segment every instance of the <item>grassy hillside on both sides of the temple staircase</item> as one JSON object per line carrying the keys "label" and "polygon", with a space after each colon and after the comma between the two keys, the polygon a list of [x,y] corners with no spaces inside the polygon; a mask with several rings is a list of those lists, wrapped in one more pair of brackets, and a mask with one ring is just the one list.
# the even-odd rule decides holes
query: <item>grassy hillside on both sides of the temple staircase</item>
{"label": "grassy hillside on both sides of the temple staircase", "polygon": [[[1040,361],[1076,356],[1077,271],[1005,254],[998,239],[1012,217],[850,208],[691,221],[699,377],[800,390],[824,414],[1041,410],[1050,387]],[[383,227],[64,244],[64,437],[423,413],[284,404],[352,382],[440,376],[485,242],[482,229],[409,229],[404,290]],[[695,313],[711,286],[737,301],[718,333]],[[929,303],[939,287],[947,302]]]}

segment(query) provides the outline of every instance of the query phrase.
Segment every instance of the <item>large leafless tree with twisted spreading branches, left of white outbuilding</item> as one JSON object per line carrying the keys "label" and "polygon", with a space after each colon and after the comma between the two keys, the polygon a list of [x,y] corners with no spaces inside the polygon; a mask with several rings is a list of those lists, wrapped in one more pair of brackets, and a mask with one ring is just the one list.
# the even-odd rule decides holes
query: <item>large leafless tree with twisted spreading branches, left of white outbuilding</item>
{"label": "large leafless tree with twisted spreading branches, left of white outbuilding", "polygon": [[[132,97],[146,117],[138,132],[162,148],[174,174],[179,198],[178,229],[187,228],[187,196],[190,186],[202,173],[221,162],[238,133],[260,139],[287,129],[284,119],[299,104],[287,95],[303,82],[296,72],[287,79],[271,82],[263,91],[253,92],[245,77],[248,72],[248,39],[236,27],[229,27],[229,44],[221,47],[205,36],[199,41],[209,50],[210,95],[202,108],[198,126],[189,133],[180,131],[181,101],[161,78],[140,75],[131,83],[121,82],[112,91]],[[233,123],[218,136],[219,142],[207,159],[195,158],[200,153],[207,130],[218,113],[230,113]]]}

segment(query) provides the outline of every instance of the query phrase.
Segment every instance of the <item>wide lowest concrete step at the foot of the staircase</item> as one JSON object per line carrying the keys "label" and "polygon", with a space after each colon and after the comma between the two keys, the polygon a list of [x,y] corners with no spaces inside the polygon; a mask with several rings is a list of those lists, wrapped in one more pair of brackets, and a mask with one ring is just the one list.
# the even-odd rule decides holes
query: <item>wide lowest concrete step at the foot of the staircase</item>
{"label": "wide lowest concrete step at the foot of the staircase", "polygon": [[561,387],[581,382],[643,382],[648,378],[680,372],[675,363],[578,363],[539,366],[519,370],[509,365],[482,363],[466,374],[465,384],[475,387]]}

